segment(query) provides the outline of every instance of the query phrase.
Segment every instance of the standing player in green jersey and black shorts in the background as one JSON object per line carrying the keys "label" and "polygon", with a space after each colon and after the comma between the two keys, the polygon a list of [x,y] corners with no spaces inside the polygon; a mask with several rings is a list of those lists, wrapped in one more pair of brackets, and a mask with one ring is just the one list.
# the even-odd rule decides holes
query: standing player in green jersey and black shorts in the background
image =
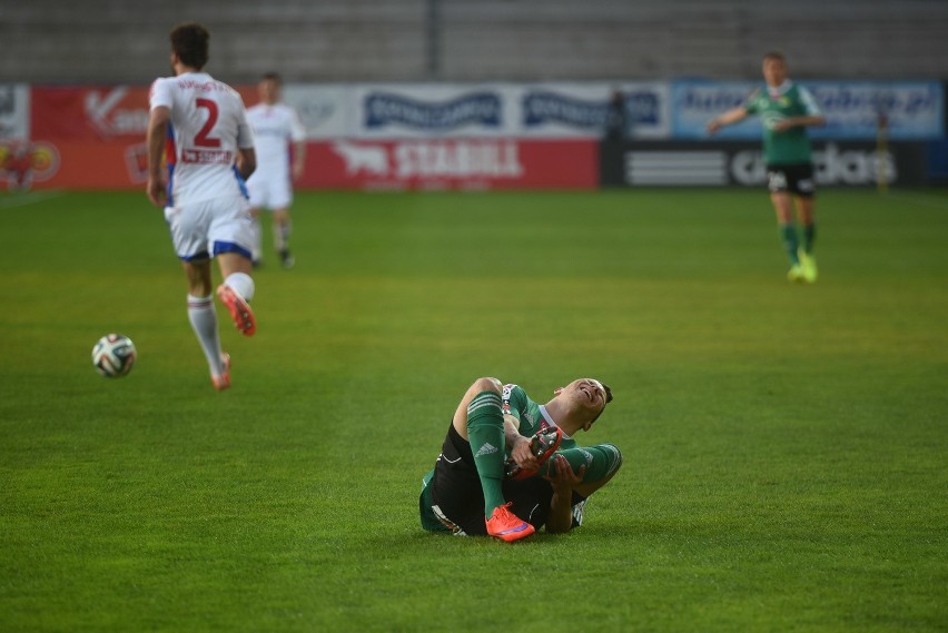
{"label": "standing player in green jersey and black shorts in the background", "polygon": [[[826,117],[812,95],[788,78],[783,55],[769,52],[763,56],[763,78],[767,82],[764,89],[756,90],[742,105],[712,119],[708,123],[708,131],[714,133],[751,115],[761,117],[770,199],[777,211],[783,247],[790,258],[787,278],[812,284],[817,280],[817,259],[813,255],[817,238],[816,185],[807,128],[824,125]],[[793,218],[794,199],[802,235]]]}

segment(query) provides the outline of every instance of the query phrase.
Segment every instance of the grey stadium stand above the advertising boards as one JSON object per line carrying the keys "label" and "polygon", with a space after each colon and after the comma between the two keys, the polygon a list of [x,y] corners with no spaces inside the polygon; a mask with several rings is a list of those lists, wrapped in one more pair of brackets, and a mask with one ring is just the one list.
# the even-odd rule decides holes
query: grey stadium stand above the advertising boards
{"label": "grey stadium stand above the advertising boards", "polygon": [[184,20],[211,29],[208,68],[231,82],[757,78],[770,49],[796,77],[948,73],[937,0],[32,0],[0,14],[0,77],[141,82]]}

